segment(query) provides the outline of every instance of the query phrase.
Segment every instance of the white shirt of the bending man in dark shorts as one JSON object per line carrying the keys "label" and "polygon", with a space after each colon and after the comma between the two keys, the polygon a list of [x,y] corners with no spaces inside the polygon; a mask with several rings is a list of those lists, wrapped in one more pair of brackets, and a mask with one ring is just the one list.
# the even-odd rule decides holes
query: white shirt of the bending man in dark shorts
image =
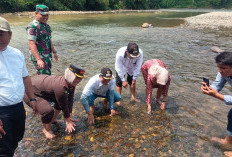
{"label": "white shirt of the bending man in dark shorts", "polygon": [[122,81],[125,81],[125,74],[133,75],[133,80],[136,80],[140,73],[140,69],[143,63],[143,51],[139,49],[140,56],[137,58],[129,58],[126,55],[127,46],[118,50],[115,59],[115,70]]}

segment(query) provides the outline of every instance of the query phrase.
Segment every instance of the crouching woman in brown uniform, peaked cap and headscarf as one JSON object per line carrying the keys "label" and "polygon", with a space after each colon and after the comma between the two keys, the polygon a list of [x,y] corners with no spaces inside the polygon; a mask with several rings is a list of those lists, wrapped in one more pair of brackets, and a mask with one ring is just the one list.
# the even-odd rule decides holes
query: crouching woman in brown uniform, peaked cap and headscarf
{"label": "crouching woman in brown uniform, peaked cap and headscarf", "polygon": [[[41,115],[44,129],[43,133],[49,139],[55,135],[51,129],[51,123],[56,121],[60,111],[63,112],[68,133],[75,131],[75,123],[78,121],[72,117],[73,97],[76,85],[84,77],[85,70],[77,65],[70,65],[65,70],[64,76],[36,75],[31,78],[34,94],[36,95],[36,107]],[[30,106],[28,95],[24,96],[24,102]],[[54,108],[49,102],[54,102]]]}

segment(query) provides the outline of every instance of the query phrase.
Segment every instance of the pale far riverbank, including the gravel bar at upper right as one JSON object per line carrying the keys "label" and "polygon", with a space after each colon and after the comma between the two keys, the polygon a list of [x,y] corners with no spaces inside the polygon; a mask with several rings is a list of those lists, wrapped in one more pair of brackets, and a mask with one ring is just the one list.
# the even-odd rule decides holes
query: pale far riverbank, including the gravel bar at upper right
{"label": "pale far riverbank, including the gravel bar at upper right", "polygon": [[[185,18],[185,26],[194,29],[220,29],[232,28],[232,12],[230,10],[210,9],[159,9],[159,10],[109,10],[109,11],[50,11],[50,15],[75,15],[75,14],[118,14],[118,13],[161,13],[173,12],[205,12],[198,16]],[[34,16],[34,12],[3,13],[0,15]]]}

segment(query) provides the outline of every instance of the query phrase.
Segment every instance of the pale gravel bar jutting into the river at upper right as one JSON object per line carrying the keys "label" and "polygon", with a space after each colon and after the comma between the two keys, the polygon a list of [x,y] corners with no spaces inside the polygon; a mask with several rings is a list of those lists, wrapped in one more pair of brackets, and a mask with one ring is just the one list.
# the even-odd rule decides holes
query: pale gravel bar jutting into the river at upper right
{"label": "pale gravel bar jutting into the river at upper right", "polygon": [[211,12],[185,18],[186,26],[196,29],[232,28],[232,12]]}

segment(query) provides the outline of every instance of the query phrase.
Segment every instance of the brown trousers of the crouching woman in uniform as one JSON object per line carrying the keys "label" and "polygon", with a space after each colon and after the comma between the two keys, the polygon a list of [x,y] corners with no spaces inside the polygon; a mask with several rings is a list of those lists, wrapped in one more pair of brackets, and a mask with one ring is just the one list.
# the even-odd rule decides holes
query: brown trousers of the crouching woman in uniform
{"label": "brown trousers of the crouching woman in uniform", "polygon": [[[41,97],[36,97],[36,100],[36,108],[41,115],[42,123],[50,123],[54,115],[54,109],[51,107],[50,103],[47,100]],[[29,98],[27,97],[27,95],[24,95],[23,101],[30,106]]]}

